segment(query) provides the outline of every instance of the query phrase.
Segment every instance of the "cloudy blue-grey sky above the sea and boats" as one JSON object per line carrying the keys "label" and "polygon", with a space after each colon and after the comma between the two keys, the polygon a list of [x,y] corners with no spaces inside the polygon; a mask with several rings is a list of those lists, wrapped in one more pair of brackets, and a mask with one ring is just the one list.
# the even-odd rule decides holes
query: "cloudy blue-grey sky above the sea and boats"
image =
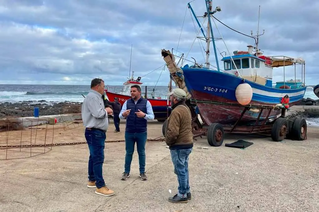
{"label": "cloudy blue-grey sky above the sea and boats", "polygon": [[[175,50],[204,63],[203,46],[184,0],[0,0],[0,84],[89,84],[102,77],[106,84],[121,85],[131,70],[145,85],[167,85],[161,49]],[[206,11],[204,0],[191,3],[197,16]],[[261,6],[259,48],[265,55],[286,55],[306,60],[306,84],[318,84],[319,2],[313,0],[216,0],[214,16],[237,31],[256,34]],[[186,16],[185,16],[186,14]],[[180,33],[183,30],[180,38]],[[203,21],[203,18],[199,18]],[[196,24],[196,23],[195,23]],[[247,51],[255,40],[216,21],[230,53]],[[214,24],[213,24],[214,25]],[[196,30],[199,29],[197,25]],[[214,27],[214,36],[220,37]],[[178,43],[179,41],[179,43]],[[203,45],[203,46],[201,46]],[[227,52],[222,40],[219,52]],[[191,51],[189,51],[191,49]],[[227,56],[229,56],[227,52]],[[211,46],[210,62],[215,65]],[[219,61],[223,68],[223,63]],[[286,68],[286,80],[294,68]],[[297,66],[301,79],[301,66]],[[283,80],[274,68],[273,81]]]}

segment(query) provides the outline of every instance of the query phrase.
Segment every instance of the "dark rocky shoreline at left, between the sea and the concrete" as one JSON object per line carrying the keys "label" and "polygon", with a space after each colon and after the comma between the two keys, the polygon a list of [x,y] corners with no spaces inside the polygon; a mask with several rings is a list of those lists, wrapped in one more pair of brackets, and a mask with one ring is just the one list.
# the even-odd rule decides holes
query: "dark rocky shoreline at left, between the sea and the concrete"
{"label": "dark rocky shoreline at left, between the sea and the concrete", "polygon": [[0,117],[33,117],[34,107],[39,108],[40,116],[80,113],[81,105],[80,102],[47,102],[45,100],[0,102]]}

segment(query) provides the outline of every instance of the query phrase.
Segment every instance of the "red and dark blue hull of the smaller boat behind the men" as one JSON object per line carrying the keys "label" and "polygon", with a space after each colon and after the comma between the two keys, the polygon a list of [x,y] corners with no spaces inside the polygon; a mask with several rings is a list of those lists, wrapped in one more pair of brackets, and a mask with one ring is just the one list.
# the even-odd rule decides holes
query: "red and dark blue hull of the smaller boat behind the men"
{"label": "red and dark blue hull of the smaller boat behind the men", "polygon": [[[121,103],[121,110],[124,102],[131,98],[128,95],[116,94],[113,92],[106,91],[106,95],[109,101],[114,101],[114,98],[117,97],[119,102]],[[170,101],[167,99],[147,99],[153,109],[154,119],[167,119],[167,117],[171,114],[172,108],[170,107]]]}

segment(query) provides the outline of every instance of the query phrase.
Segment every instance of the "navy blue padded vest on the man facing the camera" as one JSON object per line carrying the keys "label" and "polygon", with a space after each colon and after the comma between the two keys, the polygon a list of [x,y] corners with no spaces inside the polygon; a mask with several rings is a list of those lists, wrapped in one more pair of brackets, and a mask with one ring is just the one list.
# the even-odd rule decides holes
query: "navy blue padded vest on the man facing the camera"
{"label": "navy blue padded vest on the man facing the camera", "polygon": [[147,114],[146,110],[147,99],[144,99],[142,96],[137,101],[136,105],[132,98],[128,99],[126,102],[126,109],[130,111],[130,114],[126,118],[126,132],[135,133],[135,132],[146,132],[147,131],[147,120],[145,118],[139,118],[135,114],[138,110]]}

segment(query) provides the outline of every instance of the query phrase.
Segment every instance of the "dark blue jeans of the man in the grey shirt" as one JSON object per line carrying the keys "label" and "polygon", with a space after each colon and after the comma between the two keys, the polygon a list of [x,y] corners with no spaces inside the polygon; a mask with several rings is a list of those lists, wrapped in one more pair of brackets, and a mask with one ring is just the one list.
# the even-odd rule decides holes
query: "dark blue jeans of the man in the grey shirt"
{"label": "dark blue jeans of the man in the grey shirt", "polygon": [[102,175],[106,133],[96,129],[85,129],[85,139],[90,150],[88,178],[95,181],[96,187],[103,187],[106,185]]}

